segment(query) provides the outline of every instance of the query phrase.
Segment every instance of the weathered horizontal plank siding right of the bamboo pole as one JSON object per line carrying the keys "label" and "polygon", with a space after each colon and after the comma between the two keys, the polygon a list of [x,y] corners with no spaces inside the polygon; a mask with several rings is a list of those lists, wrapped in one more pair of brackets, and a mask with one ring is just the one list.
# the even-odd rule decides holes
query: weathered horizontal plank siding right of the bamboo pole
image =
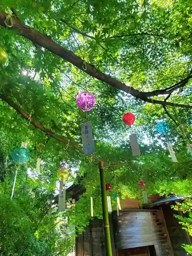
{"label": "weathered horizontal plank siding right of the bamboo pole", "polygon": [[122,210],[116,221],[117,248],[155,245],[157,256],[173,255],[161,210]]}

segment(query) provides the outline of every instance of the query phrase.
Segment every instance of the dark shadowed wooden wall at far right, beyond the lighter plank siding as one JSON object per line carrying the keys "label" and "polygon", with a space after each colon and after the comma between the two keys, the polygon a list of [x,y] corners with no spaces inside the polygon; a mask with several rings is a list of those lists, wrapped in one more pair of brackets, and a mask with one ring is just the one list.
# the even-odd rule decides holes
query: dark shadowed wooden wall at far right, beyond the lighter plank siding
{"label": "dark shadowed wooden wall at far right, beyond the lighter plank siding", "polygon": [[162,210],[175,256],[186,256],[186,251],[181,247],[182,244],[188,244],[186,233],[174,217],[174,214],[178,215],[179,212],[172,210],[170,205],[163,205]]}

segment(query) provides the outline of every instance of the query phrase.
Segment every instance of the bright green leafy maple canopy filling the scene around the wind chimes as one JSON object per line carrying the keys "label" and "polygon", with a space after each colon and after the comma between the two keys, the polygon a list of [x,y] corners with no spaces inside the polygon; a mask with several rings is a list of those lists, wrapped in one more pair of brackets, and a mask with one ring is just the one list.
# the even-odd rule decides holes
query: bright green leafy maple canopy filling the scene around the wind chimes
{"label": "bright green leafy maple canopy filling the scene around the wind chimes", "polygon": [[[190,0],[19,0],[16,3],[6,0],[0,4],[1,11],[12,9],[13,17],[20,22],[142,92],[168,88],[191,75],[190,7]],[[88,113],[93,125],[94,156],[108,162],[105,175],[112,184],[112,192],[117,189],[121,198],[128,196],[141,200],[138,181],[143,179],[148,195],[191,195],[192,165],[186,148],[191,139],[190,109],[167,106],[167,115],[162,105],[146,103],[90,77],[18,35],[17,31],[0,27],[0,41],[9,57],[9,65],[0,73],[1,94],[31,114],[57,138],[64,137],[81,147],[80,129],[86,113],[77,108],[75,98],[80,91],[89,91],[96,96],[95,107]],[[164,100],[166,96],[154,96],[153,99]],[[190,105],[190,79],[168,100]],[[77,182],[79,176],[83,177],[79,182],[87,190],[75,206],[69,202],[65,214],[68,223],[82,231],[89,223],[91,195],[94,197],[94,215],[102,218],[98,163],[73,146],[66,149],[66,144],[49,136],[49,132],[42,133],[29,125],[29,121],[4,100],[0,102],[0,108],[2,159],[7,161],[1,170],[0,205],[3,214],[0,222],[6,233],[1,238],[4,239],[1,250],[16,253],[15,250],[24,251],[27,247],[29,252],[26,253],[30,255],[35,244],[35,253],[39,255],[49,255],[51,250],[64,253],[63,248],[70,250],[71,244],[65,243],[66,240],[62,243],[53,232],[58,218],[56,209],[46,215],[47,219],[36,230],[47,205],[45,197],[50,193],[54,196],[61,161],[70,170],[68,182]],[[136,116],[133,127],[124,126],[122,122],[126,112]],[[160,120],[169,124],[170,131],[166,136],[159,136],[156,132]],[[186,134],[178,133],[177,126],[181,123],[189,126]],[[132,133],[137,134],[142,152],[137,158],[131,153],[129,134]],[[19,167],[15,198],[10,202],[16,166],[10,162],[9,156],[22,141],[28,142],[31,158],[25,167]],[[178,163],[170,159],[166,142],[174,145]],[[37,157],[43,159],[40,174],[34,170]],[[30,169],[30,176],[27,169]],[[116,207],[114,200],[113,207]],[[14,226],[16,220],[17,226]],[[18,241],[17,228],[22,230],[25,239],[20,237]],[[8,240],[10,231],[14,236],[11,244]]]}

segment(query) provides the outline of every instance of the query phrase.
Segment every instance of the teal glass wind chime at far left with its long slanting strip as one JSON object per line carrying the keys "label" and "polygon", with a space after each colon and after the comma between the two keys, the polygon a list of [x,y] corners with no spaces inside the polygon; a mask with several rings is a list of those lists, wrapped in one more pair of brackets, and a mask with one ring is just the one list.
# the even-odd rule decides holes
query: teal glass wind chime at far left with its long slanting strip
{"label": "teal glass wind chime at far left with its long slanting strip", "polygon": [[[29,158],[30,158],[30,152],[27,150],[27,143],[22,143],[22,147],[15,148],[11,152],[11,160],[15,163],[27,163]],[[14,178],[13,188],[11,193],[11,201],[13,199],[14,188],[15,188],[15,183],[17,179],[17,172],[18,172],[18,167],[16,168],[16,171],[15,171],[15,178]]]}

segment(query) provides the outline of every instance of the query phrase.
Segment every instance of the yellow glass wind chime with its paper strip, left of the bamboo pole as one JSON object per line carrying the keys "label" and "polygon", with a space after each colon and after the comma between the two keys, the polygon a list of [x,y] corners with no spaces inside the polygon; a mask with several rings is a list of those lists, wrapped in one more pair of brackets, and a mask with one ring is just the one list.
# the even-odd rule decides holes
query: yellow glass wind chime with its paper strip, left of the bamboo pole
{"label": "yellow glass wind chime with its paper strip, left of the bamboo pole", "polygon": [[59,199],[58,199],[58,211],[66,210],[66,189],[64,188],[64,181],[69,178],[69,172],[65,168],[60,168],[57,177],[59,179]]}

